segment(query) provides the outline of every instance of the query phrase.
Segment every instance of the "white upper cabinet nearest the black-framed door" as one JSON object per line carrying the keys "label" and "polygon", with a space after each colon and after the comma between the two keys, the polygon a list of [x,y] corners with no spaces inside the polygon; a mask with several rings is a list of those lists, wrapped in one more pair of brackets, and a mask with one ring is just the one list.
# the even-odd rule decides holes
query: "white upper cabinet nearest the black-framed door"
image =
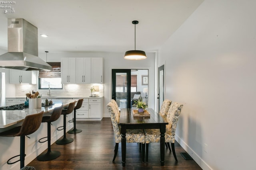
{"label": "white upper cabinet nearest the black-framed door", "polygon": [[103,83],[103,58],[91,58],[91,83]]}

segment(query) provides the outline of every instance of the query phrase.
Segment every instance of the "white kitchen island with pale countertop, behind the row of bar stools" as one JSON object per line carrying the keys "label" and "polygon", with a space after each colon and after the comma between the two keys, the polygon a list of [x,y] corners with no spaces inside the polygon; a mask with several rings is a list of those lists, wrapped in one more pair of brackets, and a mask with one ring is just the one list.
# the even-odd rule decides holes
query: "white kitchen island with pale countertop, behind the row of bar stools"
{"label": "white kitchen island with pale countertop, behind the row of bar stools", "polygon": [[[35,114],[40,111],[44,111],[45,114],[50,114],[50,112],[58,106],[62,104],[64,106],[68,106],[70,102],[74,102],[75,100],[52,100],[52,106],[46,106],[38,109],[23,109],[23,110],[0,110],[0,131],[6,131],[13,127],[22,125],[22,121],[26,117],[26,115]],[[68,120],[72,119],[73,114],[69,114],[66,122],[67,131],[73,127],[72,122],[68,122]],[[63,135],[63,131],[57,131],[57,127],[63,126],[63,116],[54,122],[52,122],[51,128],[51,144],[58,140]],[[47,136],[47,124],[41,123],[39,129],[28,135],[30,138],[25,138],[26,140],[26,150],[25,150],[25,165],[31,162],[34,158],[36,158],[40,153],[47,149],[47,142],[39,143],[38,140],[42,137]],[[12,156],[18,155],[20,150],[20,137],[0,137],[0,169],[10,169],[15,170],[19,169],[20,162],[15,164],[8,165],[6,162]]]}

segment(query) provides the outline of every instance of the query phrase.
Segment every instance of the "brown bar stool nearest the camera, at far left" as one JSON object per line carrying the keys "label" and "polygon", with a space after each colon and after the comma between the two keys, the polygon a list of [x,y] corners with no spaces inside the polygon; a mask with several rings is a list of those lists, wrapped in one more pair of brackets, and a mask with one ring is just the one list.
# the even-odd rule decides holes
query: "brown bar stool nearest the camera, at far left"
{"label": "brown bar stool nearest the camera, at far left", "polygon": [[10,158],[7,161],[7,164],[14,164],[14,163],[20,161],[20,168],[24,167],[25,156],[26,156],[26,154],[25,154],[25,136],[34,133],[40,127],[43,113],[44,113],[44,111],[41,111],[40,113],[35,113],[32,115],[27,115],[21,126],[14,127],[13,129],[10,129],[8,131],[4,131],[4,132],[0,133],[0,136],[2,136],[2,137],[20,136],[20,154],[12,157],[12,158],[16,158],[16,157],[20,156],[20,160],[17,160],[15,162],[10,162],[10,160],[12,159],[12,158]]}

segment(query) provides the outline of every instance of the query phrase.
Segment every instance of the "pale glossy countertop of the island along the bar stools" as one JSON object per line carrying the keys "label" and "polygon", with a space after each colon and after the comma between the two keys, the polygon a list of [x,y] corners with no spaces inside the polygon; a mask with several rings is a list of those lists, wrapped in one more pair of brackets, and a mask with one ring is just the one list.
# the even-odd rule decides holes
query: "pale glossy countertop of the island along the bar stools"
{"label": "pale glossy countertop of the island along the bar stools", "polygon": [[0,110],[0,128],[6,128],[17,123],[20,123],[24,120],[26,115],[31,115],[44,111],[48,113],[52,111],[55,107],[68,106],[69,103],[74,102],[75,100],[52,100],[53,105],[46,106],[38,109],[23,109],[23,110]]}

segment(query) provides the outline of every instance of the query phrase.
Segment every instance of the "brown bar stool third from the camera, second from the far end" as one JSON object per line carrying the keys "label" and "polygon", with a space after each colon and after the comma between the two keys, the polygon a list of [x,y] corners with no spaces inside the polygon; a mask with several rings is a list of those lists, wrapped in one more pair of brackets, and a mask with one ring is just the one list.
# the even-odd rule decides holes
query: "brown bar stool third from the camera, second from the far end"
{"label": "brown bar stool third from the camera, second from the far end", "polygon": [[[68,108],[67,109],[62,109],[62,115],[63,115],[63,129],[59,129],[60,127],[57,128],[58,131],[60,130],[64,130],[64,135],[63,135],[63,138],[62,139],[58,139],[56,141],[56,144],[58,145],[64,145],[64,144],[68,144],[68,143],[71,143],[74,141],[74,139],[72,138],[67,138],[66,137],[66,115],[72,113],[72,111],[74,110],[75,108],[75,104],[76,104],[76,101],[75,102],[72,102],[68,105]],[[62,126],[61,126],[62,127]]]}

